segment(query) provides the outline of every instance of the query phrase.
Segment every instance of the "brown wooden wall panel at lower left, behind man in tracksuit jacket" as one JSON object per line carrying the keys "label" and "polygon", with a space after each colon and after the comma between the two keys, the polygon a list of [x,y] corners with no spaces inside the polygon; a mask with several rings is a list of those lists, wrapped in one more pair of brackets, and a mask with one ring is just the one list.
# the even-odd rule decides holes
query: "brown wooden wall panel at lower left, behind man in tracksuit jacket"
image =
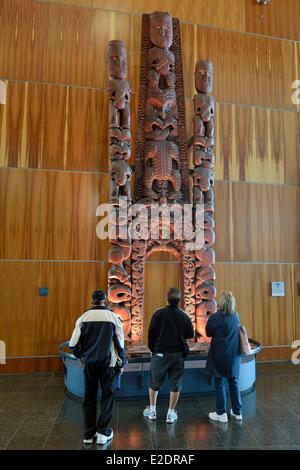
{"label": "brown wooden wall panel at lower left, behind man in tracksuit jacket", "polygon": [[[58,354],[91,293],[107,287],[108,263],[0,262],[0,337],[7,356]],[[39,297],[38,288],[48,287]]]}

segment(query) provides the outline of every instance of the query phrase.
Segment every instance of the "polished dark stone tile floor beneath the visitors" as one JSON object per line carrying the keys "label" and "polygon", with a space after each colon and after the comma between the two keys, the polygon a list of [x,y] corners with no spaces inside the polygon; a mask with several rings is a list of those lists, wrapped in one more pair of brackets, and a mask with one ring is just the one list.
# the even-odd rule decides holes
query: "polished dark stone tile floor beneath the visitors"
{"label": "polished dark stone tile floor beneath the visitors", "polygon": [[119,401],[106,446],[82,445],[81,404],[65,395],[61,374],[0,376],[0,449],[300,449],[300,366],[257,366],[256,390],[243,396],[244,421],[211,423],[214,397],[181,398],[179,419],[142,417],[146,400]]}

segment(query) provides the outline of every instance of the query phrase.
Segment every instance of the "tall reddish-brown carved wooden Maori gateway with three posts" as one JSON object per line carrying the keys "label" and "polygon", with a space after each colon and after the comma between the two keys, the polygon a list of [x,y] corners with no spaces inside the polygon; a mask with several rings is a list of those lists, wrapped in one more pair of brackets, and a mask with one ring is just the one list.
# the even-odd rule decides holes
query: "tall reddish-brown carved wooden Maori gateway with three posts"
{"label": "tall reddish-brown carved wooden Maori gateway with three posts", "polygon": [[[110,224],[122,227],[128,222],[122,215],[122,205],[132,204],[132,169],[127,162],[131,154],[130,89],[126,49],[121,41],[110,41],[108,65],[109,202],[116,209]],[[132,345],[143,343],[145,261],[154,251],[171,252],[181,262],[183,308],[194,324],[195,341],[206,340],[207,315],[216,311],[210,62],[197,62],[195,85],[198,94],[194,96],[194,135],[189,140],[194,167],[189,168],[179,20],[162,12],[143,15],[132,206],[138,209],[131,214],[131,229],[137,229],[138,236],[132,237],[132,230],[125,229],[110,238],[108,273],[108,298]],[[184,209],[187,204],[192,206],[188,213]],[[163,217],[166,211],[167,227]],[[179,213],[184,214],[184,219]],[[184,225],[181,237],[176,231],[178,220]],[[203,246],[194,243],[200,231],[204,234]]]}

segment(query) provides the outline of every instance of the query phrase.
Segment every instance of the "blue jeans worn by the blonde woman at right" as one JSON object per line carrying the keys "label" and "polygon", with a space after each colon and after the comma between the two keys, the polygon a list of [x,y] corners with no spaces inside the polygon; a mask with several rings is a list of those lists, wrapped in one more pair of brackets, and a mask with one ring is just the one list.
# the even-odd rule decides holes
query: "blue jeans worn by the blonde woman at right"
{"label": "blue jeans worn by the blonde woman at right", "polygon": [[[232,411],[236,415],[242,413],[241,392],[238,386],[237,377],[226,377],[229,385],[230,399]],[[217,406],[216,411],[218,415],[226,413],[226,380],[225,377],[215,377],[216,392],[217,392]]]}

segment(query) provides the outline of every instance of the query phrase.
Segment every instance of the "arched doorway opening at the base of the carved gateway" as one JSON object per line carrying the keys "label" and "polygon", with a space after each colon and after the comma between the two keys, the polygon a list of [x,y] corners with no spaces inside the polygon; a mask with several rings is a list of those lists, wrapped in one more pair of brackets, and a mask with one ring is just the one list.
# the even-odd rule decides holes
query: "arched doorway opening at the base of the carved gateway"
{"label": "arched doorway opening at the base of the carved gateway", "polygon": [[170,253],[154,253],[145,263],[144,344],[153,313],[166,305],[169,287],[181,289],[180,262]]}

